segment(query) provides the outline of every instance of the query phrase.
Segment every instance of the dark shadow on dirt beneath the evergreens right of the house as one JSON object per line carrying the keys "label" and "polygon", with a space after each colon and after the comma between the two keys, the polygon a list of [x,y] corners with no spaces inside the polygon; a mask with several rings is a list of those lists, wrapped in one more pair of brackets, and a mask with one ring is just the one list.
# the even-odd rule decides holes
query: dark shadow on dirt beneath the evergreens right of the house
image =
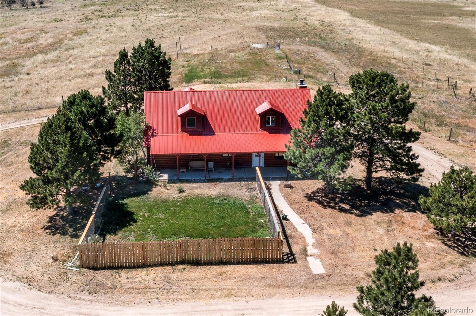
{"label": "dark shadow on dirt beneath the evergreens right of the house", "polygon": [[325,186],[321,186],[305,197],[322,207],[339,212],[368,216],[377,212],[393,213],[397,209],[416,212],[420,209],[418,198],[427,196],[428,188],[417,183],[397,184],[387,177],[375,177],[372,190],[364,189],[364,181],[354,179],[349,190],[328,195]]}

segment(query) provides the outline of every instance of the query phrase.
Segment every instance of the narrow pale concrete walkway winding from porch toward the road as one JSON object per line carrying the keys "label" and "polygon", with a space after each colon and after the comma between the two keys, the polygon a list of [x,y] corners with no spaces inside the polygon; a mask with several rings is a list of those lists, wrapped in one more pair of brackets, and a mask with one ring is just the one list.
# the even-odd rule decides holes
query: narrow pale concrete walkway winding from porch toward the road
{"label": "narrow pale concrete walkway winding from porch toward the road", "polygon": [[281,210],[281,212],[288,215],[288,219],[291,221],[291,223],[293,223],[297,230],[303,234],[304,238],[306,238],[307,262],[309,262],[309,267],[311,268],[312,273],[326,273],[324,267],[322,266],[321,260],[314,257],[317,256],[319,251],[313,247],[313,244],[316,242],[316,240],[312,238],[311,228],[299,217],[299,215],[293,211],[293,209],[284,199],[283,195],[281,195],[281,192],[279,192],[279,181],[270,181],[269,184],[271,185],[271,193],[273,195],[274,202],[276,205],[278,205],[278,208]]}

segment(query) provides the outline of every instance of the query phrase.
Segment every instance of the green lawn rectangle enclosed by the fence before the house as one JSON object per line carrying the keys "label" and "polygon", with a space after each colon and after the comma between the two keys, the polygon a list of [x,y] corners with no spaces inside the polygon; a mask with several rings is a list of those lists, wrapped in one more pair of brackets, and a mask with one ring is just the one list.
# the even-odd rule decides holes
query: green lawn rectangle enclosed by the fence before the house
{"label": "green lawn rectangle enclosed by the fence before the house", "polygon": [[261,204],[221,196],[140,196],[110,202],[102,232],[109,235],[107,240],[138,242],[184,237],[272,237]]}

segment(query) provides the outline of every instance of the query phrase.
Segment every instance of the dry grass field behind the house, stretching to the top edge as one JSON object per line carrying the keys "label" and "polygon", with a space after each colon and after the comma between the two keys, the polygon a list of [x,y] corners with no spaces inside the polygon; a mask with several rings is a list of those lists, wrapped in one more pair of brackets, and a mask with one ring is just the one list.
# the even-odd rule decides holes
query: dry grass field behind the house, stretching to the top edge
{"label": "dry grass field behind the house, stretching to the top edge", "polygon": [[[173,59],[172,85],[281,82],[286,55],[313,89],[367,67],[412,88],[420,128],[476,146],[476,1],[47,1],[0,9],[0,112],[56,107],[61,96],[100,93],[120,48],[154,38]],[[180,37],[182,54],[176,57]],[[274,49],[249,44],[281,42]],[[212,50],[210,51],[210,46]],[[336,74],[339,85],[334,83]],[[454,97],[451,87],[457,81]],[[28,116],[28,113],[21,114]]]}

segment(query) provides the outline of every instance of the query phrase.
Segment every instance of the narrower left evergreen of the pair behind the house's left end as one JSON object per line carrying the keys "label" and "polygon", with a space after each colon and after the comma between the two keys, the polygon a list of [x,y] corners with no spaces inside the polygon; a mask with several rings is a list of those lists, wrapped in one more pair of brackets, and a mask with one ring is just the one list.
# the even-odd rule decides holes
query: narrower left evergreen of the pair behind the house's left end
{"label": "narrower left evergreen of the pair behind the house's left end", "polygon": [[106,70],[105,74],[108,87],[102,87],[102,94],[108,100],[111,109],[124,112],[126,116],[129,116],[129,111],[137,111],[142,101],[134,94],[138,88],[132,79],[131,63],[126,48],[119,51],[113,72]]}

